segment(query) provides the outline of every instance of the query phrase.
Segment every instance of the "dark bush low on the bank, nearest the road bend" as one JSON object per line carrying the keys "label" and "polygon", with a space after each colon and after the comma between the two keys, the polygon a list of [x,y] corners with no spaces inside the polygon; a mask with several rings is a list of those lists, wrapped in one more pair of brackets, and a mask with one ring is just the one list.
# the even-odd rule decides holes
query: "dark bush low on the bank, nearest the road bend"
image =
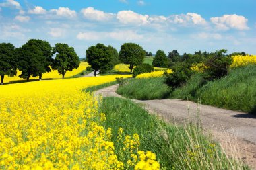
{"label": "dark bush low on the bank, nearest the road bend", "polygon": [[172,67],[173,73],[166,74],[165,83],[172,87],[172,89],[177,88],[181,85],[184,85],[189,77],[193,74],[189,65],[185,63],[180,63],[179,65],[175,65]]}

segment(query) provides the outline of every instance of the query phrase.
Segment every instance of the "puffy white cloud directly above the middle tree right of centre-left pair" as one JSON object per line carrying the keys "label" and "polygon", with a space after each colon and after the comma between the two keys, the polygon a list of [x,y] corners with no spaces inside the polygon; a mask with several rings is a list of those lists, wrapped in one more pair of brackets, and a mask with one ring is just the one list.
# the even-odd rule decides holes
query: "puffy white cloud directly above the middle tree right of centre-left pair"
{"label": "puffy white cloud directly above the middle tree right of centre-left pair", "polygon": [[117,13],[117,19],[123,24],[137,24],[143,25],[148,23],[148,15],[140,15],[133,11],[119,11]]}

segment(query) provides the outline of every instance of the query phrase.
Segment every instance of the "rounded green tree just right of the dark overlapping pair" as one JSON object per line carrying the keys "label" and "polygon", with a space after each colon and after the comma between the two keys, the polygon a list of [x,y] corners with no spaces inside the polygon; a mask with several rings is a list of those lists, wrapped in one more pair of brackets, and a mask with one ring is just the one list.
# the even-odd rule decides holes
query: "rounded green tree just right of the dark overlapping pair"
{"label": "rounded green tree just right of the dark overlapping pair", "polygon": [[73,71],[73,69],[79,67],[80,60],[73,47],[57,43],[53,48],[53,54],[56,54],[56,56],[53,60],[52,68],[62,75],[62,79],[64,79],[67,71]]}

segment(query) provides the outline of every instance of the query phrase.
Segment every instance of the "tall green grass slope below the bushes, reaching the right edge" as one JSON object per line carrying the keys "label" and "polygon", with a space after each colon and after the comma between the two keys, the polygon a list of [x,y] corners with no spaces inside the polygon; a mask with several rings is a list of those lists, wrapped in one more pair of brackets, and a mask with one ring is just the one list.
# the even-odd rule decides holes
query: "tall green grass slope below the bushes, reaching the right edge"
{"label": "tall green grass slope below the bushes, reaching the right edge", "polygon": [[172,98],[201,100],[206,105],[256,114],[256,65],[232,69],[228,76],[201,85],[201,75],[176,89]]}

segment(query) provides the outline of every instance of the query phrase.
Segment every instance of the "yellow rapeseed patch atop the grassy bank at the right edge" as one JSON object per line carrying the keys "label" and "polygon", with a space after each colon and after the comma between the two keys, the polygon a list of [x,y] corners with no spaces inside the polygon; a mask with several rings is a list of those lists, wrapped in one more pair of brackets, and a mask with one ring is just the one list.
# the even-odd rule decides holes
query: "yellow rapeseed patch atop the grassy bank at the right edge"
{"label": "yellow rapeseed patch atop the grassy bank at the right edge", "polygon": [[232,56],[233,58],[233,62],[232,65],[230,65],[230,67],[242,67],[245,65],[249,65],[249,64],[254,64],[256,65],[256,56]]}

